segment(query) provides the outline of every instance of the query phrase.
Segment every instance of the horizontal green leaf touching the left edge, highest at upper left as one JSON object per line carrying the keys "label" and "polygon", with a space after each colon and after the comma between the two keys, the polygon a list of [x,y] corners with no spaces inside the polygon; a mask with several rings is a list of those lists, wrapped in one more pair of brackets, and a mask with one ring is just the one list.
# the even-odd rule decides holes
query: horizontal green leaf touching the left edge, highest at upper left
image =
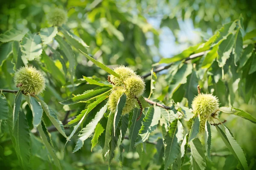
{"label": "horizontal green leaf touching the left edge, highest at upper left", "polygon": [[24,31],[19,31],[15,28],[12,28],[3,34],[0,34],[0,41],[1,42],[20,41],[22,40],[24,35],[27,33],[27,31],[28,31],[27,29],[24,29]]}

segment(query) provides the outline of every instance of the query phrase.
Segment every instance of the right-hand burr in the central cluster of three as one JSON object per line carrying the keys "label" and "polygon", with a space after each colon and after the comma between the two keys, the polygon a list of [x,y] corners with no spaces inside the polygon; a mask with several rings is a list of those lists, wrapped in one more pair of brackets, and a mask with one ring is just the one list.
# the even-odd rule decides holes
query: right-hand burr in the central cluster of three
{"label": "right-hand burr in the central cluster of three", "polygon": [[140,76],[131,76],[125,80],[128,96],[140,97],[145,91],[145,82]]}

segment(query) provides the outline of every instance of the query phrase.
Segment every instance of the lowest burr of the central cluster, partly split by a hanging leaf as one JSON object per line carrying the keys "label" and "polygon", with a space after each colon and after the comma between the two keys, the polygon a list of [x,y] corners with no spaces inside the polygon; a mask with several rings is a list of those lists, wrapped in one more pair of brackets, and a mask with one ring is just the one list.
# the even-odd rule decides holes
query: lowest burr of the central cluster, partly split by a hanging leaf
{"label": "lowest burr of the central cluster, partly split by a hanging leaf", "polygon": [[[111,112],[116,111],[118,99],[123,93],[125,93],[124,88],[117,88],[116,90],[112,91],[112,93],[110,94],[108,99],[108,108],[110,109]],[[125,103],[125,107],[123,108],[122,114],[124,115],[126,113],[129,113],[134,108],[135,102],[136,102],[136,99],[134,97],[132,98],[130,96],[126,96],[126,103]]]}

